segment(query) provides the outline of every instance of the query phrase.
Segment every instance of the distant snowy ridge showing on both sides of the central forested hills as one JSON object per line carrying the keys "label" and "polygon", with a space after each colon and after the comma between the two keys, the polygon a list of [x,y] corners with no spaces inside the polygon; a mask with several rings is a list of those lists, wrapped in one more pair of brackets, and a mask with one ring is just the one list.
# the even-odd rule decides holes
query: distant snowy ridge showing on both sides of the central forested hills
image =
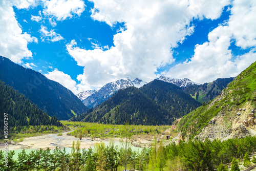
{"label": "distant snowy ridge showing on both sides of the central forested hills", "polygon": [[[160,76],[156,80],[168,82],[175,84],[176,86],[182,88],[182,90],[195,98],[200,103],[208,102],[211,99],[217,97],[221,90],[226,88],[227,84],[231,82],[234,78],[219,78],[210,83],[199,84],[194,81],[189,80],[188,78],[177,79],[166,76]],[[101,104],[103,101],[108,100],[113,94],[115,94],[120,89],[125,89],[128,87],[137,87],[140,88],[143,85],[147,84],[146,82],[136,78],[131,81],[129,78],[119,79],[114,82],[109,82],[105,84],[98,91],[89,90],[83,91],[76,96],[88,107],[95,108],[97,105]]]}

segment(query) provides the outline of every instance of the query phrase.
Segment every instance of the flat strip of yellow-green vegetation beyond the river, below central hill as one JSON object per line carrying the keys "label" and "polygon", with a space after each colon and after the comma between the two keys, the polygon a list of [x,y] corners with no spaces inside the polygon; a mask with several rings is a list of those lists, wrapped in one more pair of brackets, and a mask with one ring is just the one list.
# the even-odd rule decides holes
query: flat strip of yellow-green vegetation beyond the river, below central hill
{"label": "flat strip of yellow-green vegetation beyond the river, below central hill", "polygon": [[[91,137],[106,139],[106,138],[120,138],[129,131],[133,140],[148,140],[153,141],[154,138],[160,139],[165,138],[164,135],[177,135],[177,131],[170,130],[169,125],[159,125],[159,126],[148,126],[148,125],[113,125],[113,124],[101,124],[101,123],[90,123],[90,122],[69,122],[61,121],[63,125],[70,127],[74,130],[68,135],[75,137]],[[166,130],[168,132],[165,132]]]}

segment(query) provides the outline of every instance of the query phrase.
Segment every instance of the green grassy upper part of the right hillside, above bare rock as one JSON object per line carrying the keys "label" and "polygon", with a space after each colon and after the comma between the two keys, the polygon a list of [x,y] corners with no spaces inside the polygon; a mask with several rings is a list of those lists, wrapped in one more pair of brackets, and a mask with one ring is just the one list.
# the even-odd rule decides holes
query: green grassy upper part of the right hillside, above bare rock
{"label": "green grassy upper part of the right hillside, above bare rock", "polygon": [[[244,70],[221,94],[206,105],[185,115],[178,128],[182,137],[193,138],[209,124],[217,114],[222,114],[230,124],[236,118],[236,111],[245,105],[256,108],[256,62]],[[230,112],[232,111],[232,112]]]}

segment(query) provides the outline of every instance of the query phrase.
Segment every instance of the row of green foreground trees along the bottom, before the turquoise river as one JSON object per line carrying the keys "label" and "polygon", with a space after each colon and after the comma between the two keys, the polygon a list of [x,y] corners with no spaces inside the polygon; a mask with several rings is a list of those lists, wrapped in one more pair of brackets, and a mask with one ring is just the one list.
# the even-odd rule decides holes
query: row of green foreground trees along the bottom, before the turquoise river
{"label": "row of green foreground trees along the bottom, before the turquoise river", "polygon": [[[127,132],[126,132],[127,133]],[[122,147],[112,142],[96,144],[93,149],[80,149],[80,141],[73,142],[71,153],[56,147],[31,151],[25,150],[14,160],[14,151],[8,152],[8,167],[4,166],[4,152],[0,151],[0,170],[239,170],[238,163],[255,163],[249,155],[256,152],[256,137],[228,139],[225,141],[205,140],[180,141],[164,146],[162,141],[154,141],[152,147],[140,152],[132,151],[131,137],[126,134],[121,141]],[[232,162],[232,164],[230,164]]]}

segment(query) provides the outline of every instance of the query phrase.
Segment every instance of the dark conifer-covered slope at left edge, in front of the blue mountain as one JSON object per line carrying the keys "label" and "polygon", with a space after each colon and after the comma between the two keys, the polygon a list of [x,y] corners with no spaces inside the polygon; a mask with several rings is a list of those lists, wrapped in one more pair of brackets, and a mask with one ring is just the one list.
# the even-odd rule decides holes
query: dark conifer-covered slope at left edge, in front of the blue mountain
{"label": "dark conifer-covered slope at left edge, in front of the blue mountain", "polygon": [[[62,126],[58,119],[50,117],[37,105],[32,103],[25,95],[20,94],[4,82],[0,81],[0,122],[1,130],[4,130],[4,117],[8,127],[29,125],[55,125]],[[6,113],[4,115],[4,113]]]}

